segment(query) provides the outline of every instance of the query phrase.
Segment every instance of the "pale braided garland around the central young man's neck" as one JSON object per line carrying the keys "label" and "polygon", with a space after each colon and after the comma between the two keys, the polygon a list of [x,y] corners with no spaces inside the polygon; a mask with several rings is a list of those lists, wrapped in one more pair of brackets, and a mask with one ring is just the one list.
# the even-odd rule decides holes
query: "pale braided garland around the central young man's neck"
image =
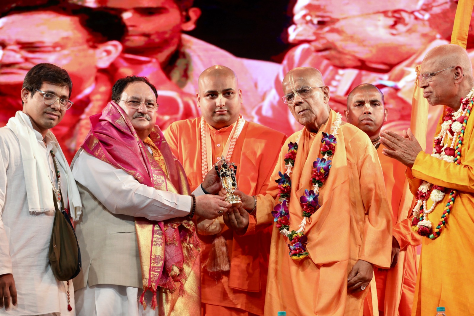
{"label": "pale braided garland around the central young man's neck", "polygon": [[[237,139],[240,135],[240,132],[244,128],[245,120],[242,117],[239,117],[236,124],[232,128],[230,132],[229,138],[227,139],[226,147],[222,152],[222,156],[226,157],[227,161],[230,161],[232,154],[234,153],[234,148],[236,146]],[[201,157],[202,157],[202,164],[201,164],[201,172],[202,172],[202,180],[208,174],[209,170],[212,169],[212,147],[207,147],[207,144],[210,144],[210,131],[209,126],[207,126],[204,118],[201,118]],[[227,154],[226,154],[227,150]],[[208,161],[208,156],[210,160]]]}

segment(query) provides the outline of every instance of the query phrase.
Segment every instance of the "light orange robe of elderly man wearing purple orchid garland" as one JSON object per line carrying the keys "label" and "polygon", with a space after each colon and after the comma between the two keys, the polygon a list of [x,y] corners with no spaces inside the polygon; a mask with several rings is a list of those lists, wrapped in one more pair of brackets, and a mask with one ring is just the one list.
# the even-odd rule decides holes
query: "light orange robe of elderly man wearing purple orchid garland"
{"label": "light orange robe of elderly man wearing purple orchid garland", "polygon": [[[319,154],[322,132],[330,132],[336,112],[331,111],[318,133],[302,133],[292,172],[290,231],[302,220],[299,198],[310,189],[313,161]],[[273,221],[278,172],[285,170],[284,145],[266,195],[257,199],[256,225]],[[362,315],[368,291],[347,293],[347,276],[357,260],[388,268],[392,249],[392,214],[385,195],[382,169],[368,136],[351,124],[338,131],[328,179],[319,190],[319,210],[306,225],[309,258],[294,261],[287,238],[273,226],[268,268],[265,316],[286,311],[288,316]],[[249,226],[249,230],[253,227]]]}

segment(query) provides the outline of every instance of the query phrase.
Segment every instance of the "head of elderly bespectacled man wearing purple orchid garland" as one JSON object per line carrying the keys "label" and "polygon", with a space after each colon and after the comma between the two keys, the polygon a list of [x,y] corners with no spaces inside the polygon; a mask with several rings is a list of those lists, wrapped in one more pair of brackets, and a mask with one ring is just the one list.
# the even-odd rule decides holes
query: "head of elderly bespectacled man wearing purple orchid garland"
{"label": "head of elderly bespectacled man wearing purple orchid garland", "polygon": [[298,67],[283,79],[284,100],[292,115],[310,132],[317,132],[329,118],[329,87],[318,69]]}

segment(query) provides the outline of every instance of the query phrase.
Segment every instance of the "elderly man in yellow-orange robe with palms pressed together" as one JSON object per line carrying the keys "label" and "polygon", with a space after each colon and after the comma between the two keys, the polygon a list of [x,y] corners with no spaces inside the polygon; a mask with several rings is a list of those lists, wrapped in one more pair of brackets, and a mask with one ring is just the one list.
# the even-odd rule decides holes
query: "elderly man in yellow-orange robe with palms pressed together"
{"label": "elderly man in yellow-orange robe with palms pressed together", "polygon": [[430,50],[418,85],[428,104],[445,106],[433,153],[426,154],[410,130],[381,134],[383,153],[408,167],[416,198],[408,228],[423,236],[412,315],[434,315],[438,306],[446,307],[446,315],[472,315],[474,79],[466,51],[457,45]]}

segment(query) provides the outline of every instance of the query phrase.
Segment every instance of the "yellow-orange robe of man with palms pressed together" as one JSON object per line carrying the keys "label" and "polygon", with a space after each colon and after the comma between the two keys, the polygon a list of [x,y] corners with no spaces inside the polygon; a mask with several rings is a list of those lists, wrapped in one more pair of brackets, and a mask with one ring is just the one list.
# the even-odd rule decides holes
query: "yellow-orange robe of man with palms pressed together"
{"label": "yellow-orange robe of man with palms pressed together", "polygon": [[[443,111],[441,118],[446,114]],[[438,121],[438,129],[442,119]],[[422,180],[456,189],[457,197],[447,224],[436,240],[423,237],[418,279],[413,302],[414,316],[432,316],[436,307],[446,307],[446,315],[472,315],[474,312],[474,119],[467,121],[461,147],[461,164],[447,163],[420,152],[407,169],[410,190],[416,194]],[[436,227],[447,204],[450,190],[428,219]],[[432,205],[427,201],[427,208]]]}

